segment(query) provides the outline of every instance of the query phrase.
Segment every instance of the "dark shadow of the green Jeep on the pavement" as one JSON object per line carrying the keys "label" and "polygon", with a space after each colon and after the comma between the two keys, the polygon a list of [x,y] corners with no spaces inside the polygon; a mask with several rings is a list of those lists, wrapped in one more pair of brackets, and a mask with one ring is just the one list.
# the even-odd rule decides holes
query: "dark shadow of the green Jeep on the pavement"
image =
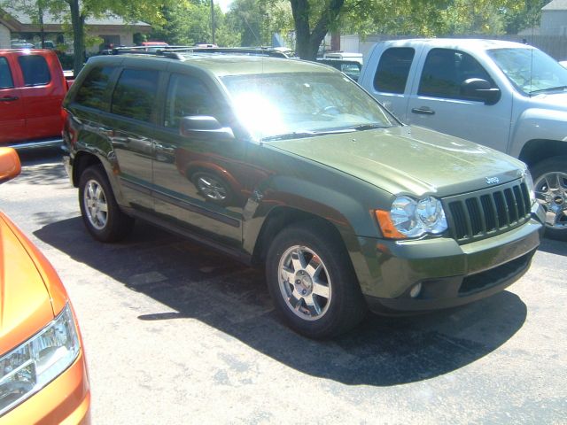
{"label": "dark shadow of the green Jeep on the pavement", "polygon": [[261,270],[158,228],[136,223],[124,243],[97,243],[75,217],[35,236],[177,312],[138,316],[142,321],[198,319],[288,367],[338,383],[386,386],[447,374],[508,341],[527,313],[504,291],[427,315],[369,315],[345,336],[312,341],[278,320]]}

